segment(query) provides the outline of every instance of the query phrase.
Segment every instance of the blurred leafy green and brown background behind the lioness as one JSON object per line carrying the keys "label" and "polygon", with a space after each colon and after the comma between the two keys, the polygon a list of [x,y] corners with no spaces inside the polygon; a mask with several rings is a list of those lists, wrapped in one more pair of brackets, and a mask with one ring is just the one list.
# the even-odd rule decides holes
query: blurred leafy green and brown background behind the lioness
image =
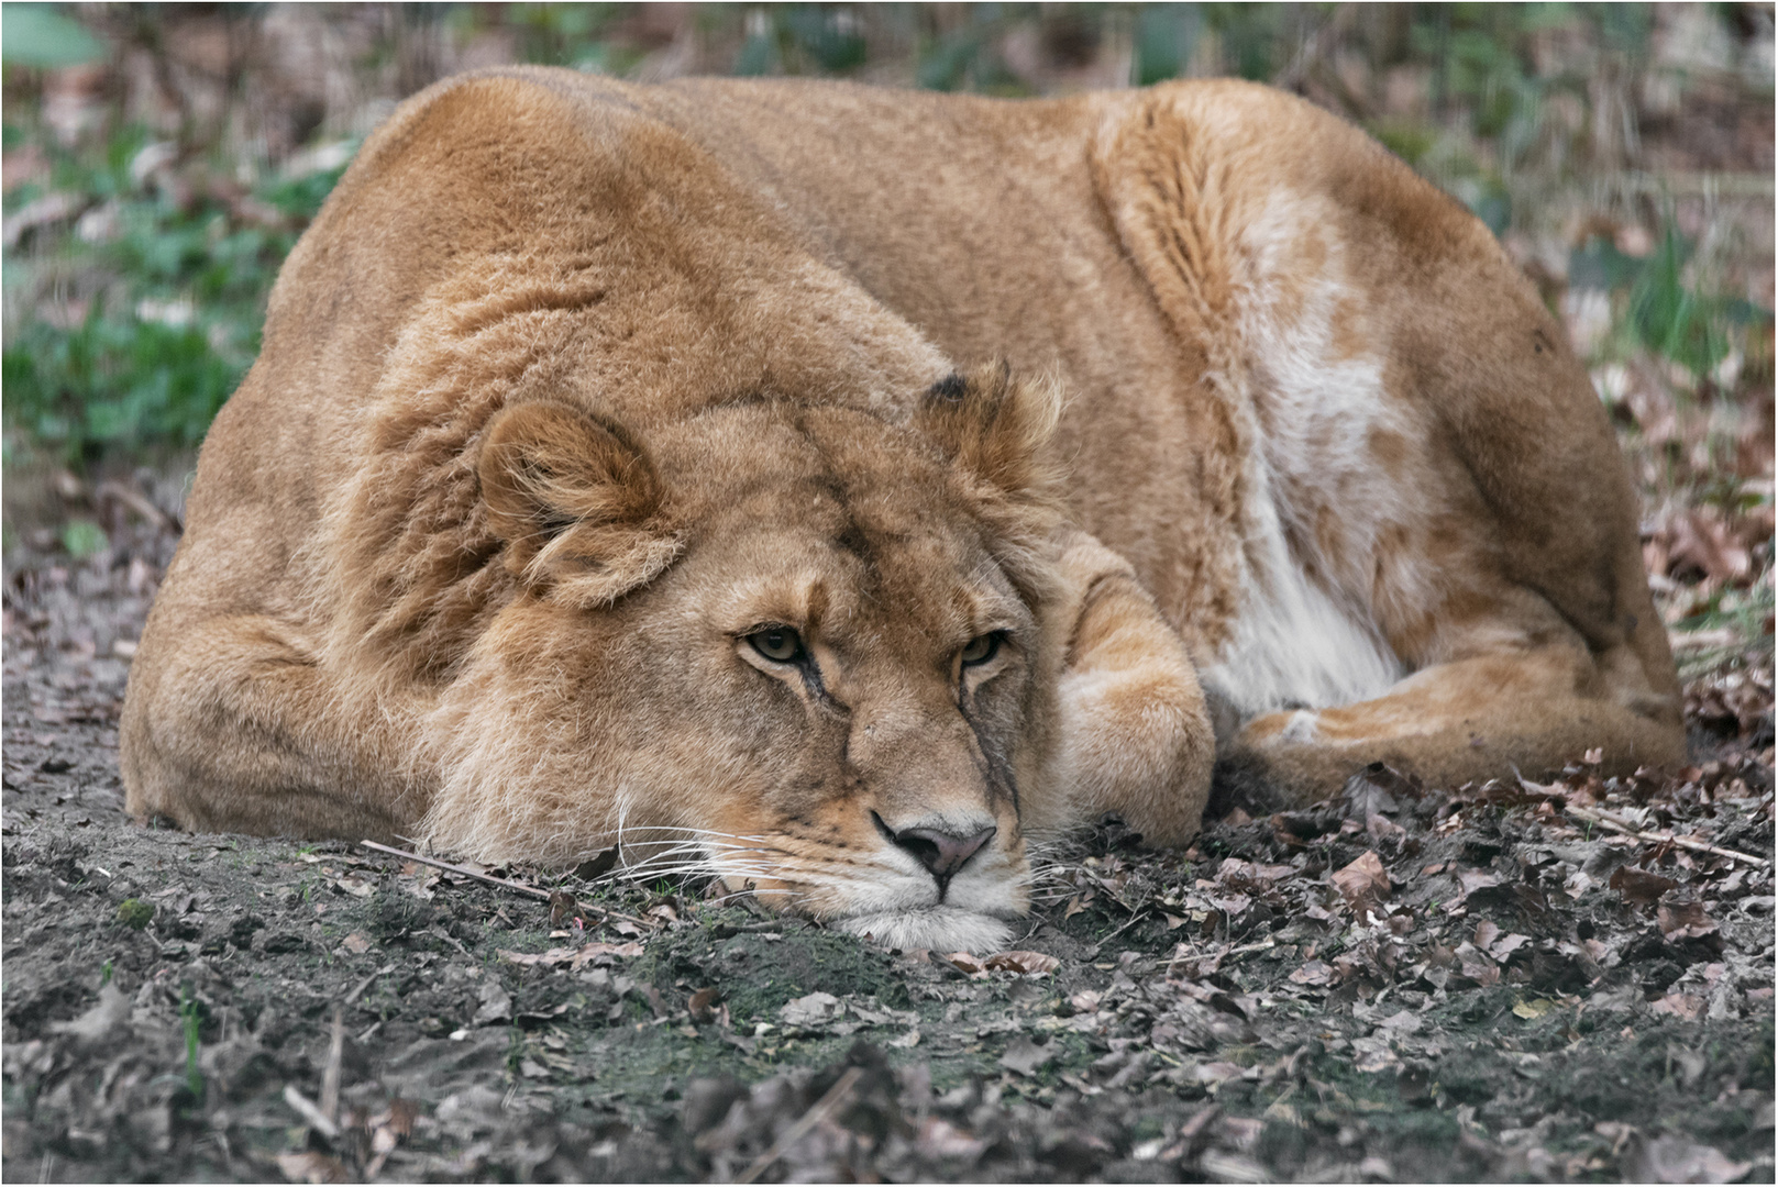
{"label": "blurred leafy green and brown background behind the lioness", "polygon": [[[363,135],[459,69],[1054,96],[1237,75],[1474,210],[1568,325],[1664,609],[1771,633],[1771,4],[5,4],[7,503],[174,462]],[[57,469],[62,467],[62,469]],[[76,483],[78,485],[78,483]],[[14,519],[9,510],[9,521]],[[68,538],[62,531],[59,538]],[[1739,615],[1739,617],[1737,617]]]}

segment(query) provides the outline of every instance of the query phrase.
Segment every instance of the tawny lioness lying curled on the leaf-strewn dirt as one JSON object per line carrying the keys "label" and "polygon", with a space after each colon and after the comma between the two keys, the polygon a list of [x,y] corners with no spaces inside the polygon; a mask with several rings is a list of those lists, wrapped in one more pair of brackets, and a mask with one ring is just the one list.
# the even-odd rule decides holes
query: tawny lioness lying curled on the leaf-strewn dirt
{"label": "tawny lioness lying curled on the leaf-strewn dirt", "polygon": [[187,522],[132,812],[621,840],[901,947],[1001,944],[1026,833],[1188,840],[1216,759],[1684,753],[1561,329],[1236,82],[439,84],[292,252]]}

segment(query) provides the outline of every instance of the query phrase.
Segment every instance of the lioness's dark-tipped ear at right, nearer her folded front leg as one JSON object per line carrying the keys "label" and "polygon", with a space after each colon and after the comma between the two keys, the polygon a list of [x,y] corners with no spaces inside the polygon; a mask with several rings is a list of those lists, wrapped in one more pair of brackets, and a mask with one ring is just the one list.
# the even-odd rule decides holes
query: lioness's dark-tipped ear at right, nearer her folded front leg
{"label": "lioness's dark-tipped ear at right, nearer her folded front leg", "polygon": [[1054,384],[1019,380],[1005,362],[990,362],[928,387],[914,425],[976,478],[1008,494],[1042,496],[1056,482],[1047,444],[1060,418]]}

